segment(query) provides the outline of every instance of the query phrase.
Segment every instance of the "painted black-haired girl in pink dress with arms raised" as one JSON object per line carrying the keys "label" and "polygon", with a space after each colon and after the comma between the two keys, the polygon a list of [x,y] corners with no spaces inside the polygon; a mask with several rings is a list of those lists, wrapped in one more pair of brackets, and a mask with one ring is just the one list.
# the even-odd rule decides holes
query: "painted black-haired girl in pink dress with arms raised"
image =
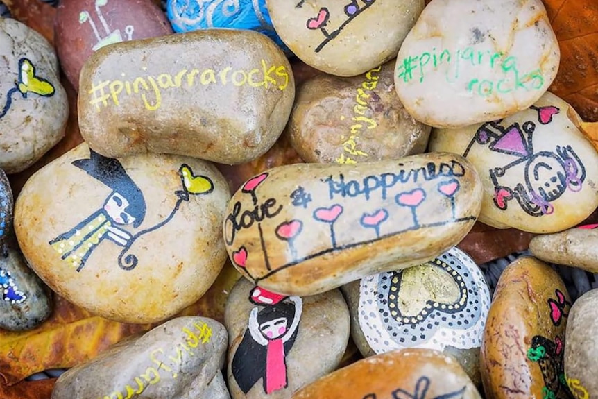
{"label": "painted black-haired girl in pink dress with arms raised", "polygon": [[251,309],[248,328],[232,359],[232,375],[241,391],[248,393],[260,378],[266,394],[287,387],[286,356],[295,343],[301,313],[298,296]]}

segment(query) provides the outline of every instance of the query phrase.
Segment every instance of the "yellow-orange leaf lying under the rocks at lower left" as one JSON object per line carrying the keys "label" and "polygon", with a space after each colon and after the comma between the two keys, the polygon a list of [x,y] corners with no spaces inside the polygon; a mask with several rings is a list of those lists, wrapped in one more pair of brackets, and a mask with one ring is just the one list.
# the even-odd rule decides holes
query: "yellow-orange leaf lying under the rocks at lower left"
{"label": "yellow-orange leaf lying under the rocks at lower left", "polygon": [[[200,315],[222,322],[226,298],[239,276],[228,262],[206,294],[177,316]],[[93,316],[64,298],[55,299],[53,316],[39,328],[28,332],[0,330],[0,375],[6,384],[51,368],[76,366],[113,343],[160,325],[117,323]]]}

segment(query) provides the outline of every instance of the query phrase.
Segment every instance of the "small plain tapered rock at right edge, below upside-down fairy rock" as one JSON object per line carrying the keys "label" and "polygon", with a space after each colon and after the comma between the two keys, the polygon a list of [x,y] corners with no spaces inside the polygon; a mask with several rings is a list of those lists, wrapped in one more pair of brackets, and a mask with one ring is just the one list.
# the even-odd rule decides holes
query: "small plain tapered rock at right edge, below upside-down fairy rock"
{"label": "small plain tapered rock at right edge, below upside-down fairy rock", "polygon": [[529,243],[529,251],[539,259],[578,267],[598,273],[598,230],[573,228],[554,234],[537,235]]}

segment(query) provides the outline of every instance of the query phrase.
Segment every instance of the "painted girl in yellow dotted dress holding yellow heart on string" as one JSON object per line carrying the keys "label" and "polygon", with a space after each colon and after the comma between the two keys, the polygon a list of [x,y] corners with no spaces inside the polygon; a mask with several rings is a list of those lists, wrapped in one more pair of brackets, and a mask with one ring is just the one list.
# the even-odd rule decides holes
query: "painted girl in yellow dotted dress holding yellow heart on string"
{"label": "painted girl in yellow dotted dress holding yellow heart on string", "polygon": [[155,226],[131,235],[121,226],[138,228],[146,215],[146,202],[141,189],[128,176],[122,164],[118,160],[96,153],[91,148],[89,158],[75,160],[72,164],[112,189],[99,210],[71,230],[49,241],[49,244],[60,254],[61,259],[68,262],[76,271],[83,269],[94,249],[105,239],[123,247],[118,259],[121,269],[134,269],[137,266],[137,257],[126,255],[126,252],[135,239],[168,223],[178,211],[180,203],[189,201],[189,194],[209,194],[214,189],[210,178],[194,176],[189,165],[183,164],[179,169],[182,190],[175,192],[178,201],[171,214]]}

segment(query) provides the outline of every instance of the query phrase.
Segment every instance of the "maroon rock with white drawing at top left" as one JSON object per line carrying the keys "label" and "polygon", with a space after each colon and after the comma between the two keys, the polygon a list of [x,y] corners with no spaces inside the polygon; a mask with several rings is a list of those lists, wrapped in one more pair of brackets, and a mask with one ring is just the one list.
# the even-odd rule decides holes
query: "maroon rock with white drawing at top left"
{"label": "maroon rock with white drawing at top left", "polygon": [[61,0],[56,8],[56,51],[75,89],[81,68],[94,51],[109,44],[171,33],[166,15],[152,0]]}

